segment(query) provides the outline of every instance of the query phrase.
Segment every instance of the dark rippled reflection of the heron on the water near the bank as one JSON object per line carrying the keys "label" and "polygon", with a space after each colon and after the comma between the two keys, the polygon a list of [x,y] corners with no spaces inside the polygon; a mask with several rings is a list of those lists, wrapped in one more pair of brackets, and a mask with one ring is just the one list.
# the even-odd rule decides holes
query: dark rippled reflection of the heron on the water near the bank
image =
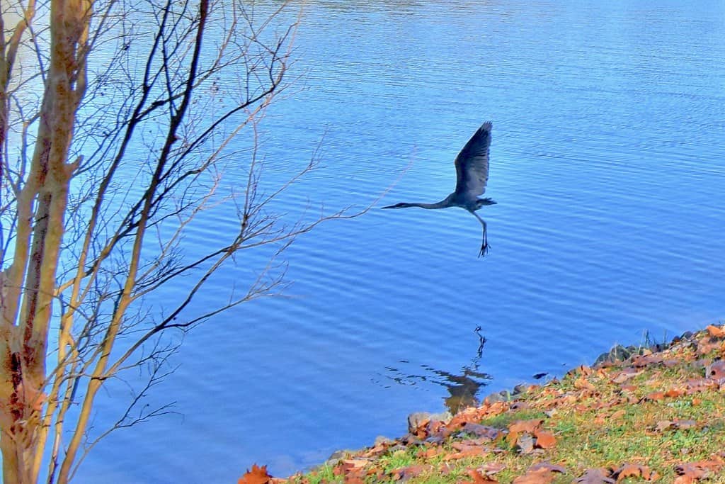
{"label": "dark rippled reflection of the heron on the water near the bank", "polygon": [[[465,407],[478,405],[480,403],[479,391],[482,387],[489,384],[492,376],[479,370],[481,356],[483,356],[484,345],[486,344],[486,337],[481,335],[480,326],[476,327],[473,332],[479,337],[479,348],[476,350],[476,356],[471,359],[471,363],[463,366],[460,372],[450,373],[422,364],[421,368],[426,373],[407,374],[404,369],[386,366],[386,370],[390,373],[386,375],[386,378],[399,385],[421,386],[434,383],[435,385],[445,387],[448,395],[444,397],[443,401],[451,414],[456,414],[457,411],[465,409]],[[402,360],[400,363],[409,364],[410,362]]]}

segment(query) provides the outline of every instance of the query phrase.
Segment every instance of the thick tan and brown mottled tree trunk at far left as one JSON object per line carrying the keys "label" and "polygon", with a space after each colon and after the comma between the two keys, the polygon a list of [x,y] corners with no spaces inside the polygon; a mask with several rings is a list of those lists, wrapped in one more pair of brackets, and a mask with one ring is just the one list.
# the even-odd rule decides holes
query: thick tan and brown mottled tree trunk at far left
{"label": "thick tan and brown mottled tree trunk at far left", "polygon": [[[85,89],[90,5],[51,1],[51,56],[28,182],[17,197],[16,257],[4,274],[0,328],[0,448],[6,483],[35,483],[46,352],[70,179],[75,112]],[[25,237],[21,237],[27,234]],[[18,257],[19,255],[19,257]],[[25,255],[25,256],[23,256]]]}

